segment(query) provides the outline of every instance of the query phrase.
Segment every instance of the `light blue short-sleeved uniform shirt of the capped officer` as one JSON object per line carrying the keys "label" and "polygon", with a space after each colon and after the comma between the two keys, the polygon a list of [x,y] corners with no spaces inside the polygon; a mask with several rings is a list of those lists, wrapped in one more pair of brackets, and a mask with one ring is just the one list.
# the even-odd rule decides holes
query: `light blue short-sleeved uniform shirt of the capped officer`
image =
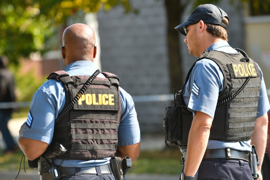
{"label": "light blue short-sleeved uniform shirt of the capped officer", "polygon": [[[218,41],[212,44],[208,50],[217,50],[226,53],[236,53],[227,41]],[[267,113],[270,109],[264,79],[261,73],[261,90],[258,104],[257,117]],[[201,111],[214,118],[214,113],[218,101],[218,93],[222,90],[224,77],[219,66],[210,59],[198,61],[187,81],[184,89],[183,98],[188,109],[193,112]],[[209,140],[207,149],[232,148],[240,151],[251,151],[250,140],[241,142],[222,142]],[[183,150],[181,150],[184,152]]]}

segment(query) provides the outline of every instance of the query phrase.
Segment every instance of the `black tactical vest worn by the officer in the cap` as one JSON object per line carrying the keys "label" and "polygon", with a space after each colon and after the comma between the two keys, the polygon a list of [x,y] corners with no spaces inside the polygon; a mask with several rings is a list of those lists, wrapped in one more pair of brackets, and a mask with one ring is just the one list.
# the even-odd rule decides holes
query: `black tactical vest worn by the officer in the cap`
{"label": "black tactical vest worn by the officer in the cap", "polygon": [[[209,140],[226,142],[250,140],[254,132],[261,89],[260,72],[256,63],[250,58],[249,62],[245,62],[241,53],[227,54],[220,51],[206,51],[197,61],[201,59],[210,59],[217,63],[224,76],[224,85],[218,95],[218,103],[222,101],[225,103],[217,106],[215,110]],[[195,63],[186,77],[185,84]],[[241,88],[249,76],[251,78],[245,88],[235,98],[226,101]],[[180,99],[183,103],[183,93]]]}

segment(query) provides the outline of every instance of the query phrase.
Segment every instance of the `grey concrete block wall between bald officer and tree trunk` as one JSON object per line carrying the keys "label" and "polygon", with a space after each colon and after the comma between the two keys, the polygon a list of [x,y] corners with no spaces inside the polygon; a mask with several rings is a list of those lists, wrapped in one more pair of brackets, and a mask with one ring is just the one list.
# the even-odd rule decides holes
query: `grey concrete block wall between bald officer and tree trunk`
{"label": "grey concrete block wall between bald officer and tree trunk", "polygon": [[[97,14],[102,71],[117,74],[132,96],[169,94],[164,1],[131,3],[138,14],[125,14],[122,7]],[[141,131],[162,132],[165,107],[171,104],[135,102]]]}

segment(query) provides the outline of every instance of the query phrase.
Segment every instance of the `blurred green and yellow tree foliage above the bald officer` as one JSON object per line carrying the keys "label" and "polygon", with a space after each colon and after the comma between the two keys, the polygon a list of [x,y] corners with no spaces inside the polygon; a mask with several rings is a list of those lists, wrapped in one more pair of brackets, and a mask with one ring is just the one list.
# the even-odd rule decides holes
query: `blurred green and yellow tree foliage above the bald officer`
{"label": "blurred green and yellow tree foliage above the bald officer", "polygon": [[31,52],[46,51],[44,42],[56,26],[78,10],[89,13],[118,5],[132,10],[128,0],[1,0],[0,55],[18,64]]}

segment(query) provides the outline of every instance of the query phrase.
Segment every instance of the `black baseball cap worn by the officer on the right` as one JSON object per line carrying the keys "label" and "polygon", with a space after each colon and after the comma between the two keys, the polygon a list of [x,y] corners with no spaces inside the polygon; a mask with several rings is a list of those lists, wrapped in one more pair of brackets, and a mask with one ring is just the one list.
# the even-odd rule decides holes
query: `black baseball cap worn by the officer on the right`
{"label": "black baseball cap worn by the officer on the right", "polygon": [[179,33],[187,36],[184,31],[184,27],[187,25],[194,24],[200,20],[203,20],[205,23],[220,25],[224,29],[228,29],[228,26],[222,22],[222,18],[226,17],[229,21],[228,15],[219,7],[214,6],[212,4],[203,4],[198,7],[191,13],[188,17],[187,21],[175,27]]}

